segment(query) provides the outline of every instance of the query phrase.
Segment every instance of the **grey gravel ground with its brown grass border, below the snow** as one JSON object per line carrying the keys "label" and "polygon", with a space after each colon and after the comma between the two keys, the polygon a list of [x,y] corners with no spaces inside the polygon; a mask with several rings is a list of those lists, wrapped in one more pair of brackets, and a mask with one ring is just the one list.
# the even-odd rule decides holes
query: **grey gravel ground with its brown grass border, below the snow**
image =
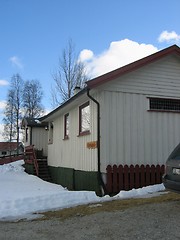
{"label": "grey gravel ground with its brown grass border, below the snow", "polygon": [[114,200],[0,222],[0,240],[179,240],[180,194]]}

